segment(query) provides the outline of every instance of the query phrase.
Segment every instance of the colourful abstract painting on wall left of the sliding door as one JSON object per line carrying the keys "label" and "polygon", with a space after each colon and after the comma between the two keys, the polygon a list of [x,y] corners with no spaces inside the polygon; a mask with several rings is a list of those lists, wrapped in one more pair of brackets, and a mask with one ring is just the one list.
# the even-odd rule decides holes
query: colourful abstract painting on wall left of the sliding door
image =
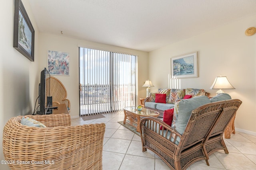
{"label": "colourful abstract painting on wall left of the sliding door", "polygon": [[69,53],[48,50],[48,72],[53,75],[69,76]]}

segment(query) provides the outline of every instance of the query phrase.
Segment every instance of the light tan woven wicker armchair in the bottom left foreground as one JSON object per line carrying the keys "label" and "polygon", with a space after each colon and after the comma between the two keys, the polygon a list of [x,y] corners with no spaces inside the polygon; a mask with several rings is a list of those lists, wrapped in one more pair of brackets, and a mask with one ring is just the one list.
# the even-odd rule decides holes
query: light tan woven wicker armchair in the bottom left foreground
{"label": "light tan woven wicker armchair in the bottom left foreground", "polygon": [[22,125],[22,116],[6,123],[3,152],[12,170],[102,170],[104,123],[71,126],[69,114],[27,116],[46,128]]}

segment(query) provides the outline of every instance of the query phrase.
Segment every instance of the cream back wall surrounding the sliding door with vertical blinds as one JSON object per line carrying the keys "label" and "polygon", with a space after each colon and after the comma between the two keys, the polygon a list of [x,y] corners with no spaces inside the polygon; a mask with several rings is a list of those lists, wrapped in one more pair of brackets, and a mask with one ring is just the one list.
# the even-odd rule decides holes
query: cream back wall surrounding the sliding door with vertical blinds
{"label": "cream back wall surrounding the sliding door with vertical blinds", "polygon": [[72,118],[79,116],[79,51],[78,45],[87,48],[100,49],[106,51],[114,51],[120,53],[128,53],[138,55],[138,98],[146,95],[146,89],[142,87],[144,81],[148,79],[148,53],[125,49],[111,45],[104,45],[83,41],[63,35],[53,35],[49,33],[40,33],[40,69],[47,68],[48,50],[63,51],[70,53],[70,76],[58,76],[62,84],[64,84],[70,100],[70,115]]}

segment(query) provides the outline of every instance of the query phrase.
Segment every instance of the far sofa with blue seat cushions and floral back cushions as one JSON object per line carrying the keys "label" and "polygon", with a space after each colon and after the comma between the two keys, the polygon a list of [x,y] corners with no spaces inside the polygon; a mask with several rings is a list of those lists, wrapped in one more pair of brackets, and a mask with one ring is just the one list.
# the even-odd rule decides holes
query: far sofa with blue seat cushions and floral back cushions
{"label": "far sofa with blue seat cushions and floral back cushions", "polygon": [[[157,103],[155,101],[156,94],[166,94],[165,103]],[[185,95],[190,95],[192,98],[196,96],[210,97],[210,93],[204,89],[186,88],[186,89],[167,89],[159,88],[157,93],[150,93],[150,96],[145,98],[144,107],[158,111],[160,117],[163,116],[164,110],[174,107],[176,101],[183,99]]]}

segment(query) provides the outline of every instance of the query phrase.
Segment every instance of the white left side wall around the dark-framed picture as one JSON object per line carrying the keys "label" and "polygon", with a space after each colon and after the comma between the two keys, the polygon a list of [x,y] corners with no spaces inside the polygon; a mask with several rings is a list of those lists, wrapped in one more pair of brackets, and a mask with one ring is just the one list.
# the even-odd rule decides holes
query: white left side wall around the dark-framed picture
{"label": "white left side wall around the dark-framed picture", "polygon": [[[14,0],[5,0],[0,6],[0,160],[4,160],[2,131],[11,117],[32,114],[38,95],[39,33],[28,0],[22,0],[35,30],[35,59],[29,61],[13,48]],[[9,169],[0,164],[0,169]]]}

